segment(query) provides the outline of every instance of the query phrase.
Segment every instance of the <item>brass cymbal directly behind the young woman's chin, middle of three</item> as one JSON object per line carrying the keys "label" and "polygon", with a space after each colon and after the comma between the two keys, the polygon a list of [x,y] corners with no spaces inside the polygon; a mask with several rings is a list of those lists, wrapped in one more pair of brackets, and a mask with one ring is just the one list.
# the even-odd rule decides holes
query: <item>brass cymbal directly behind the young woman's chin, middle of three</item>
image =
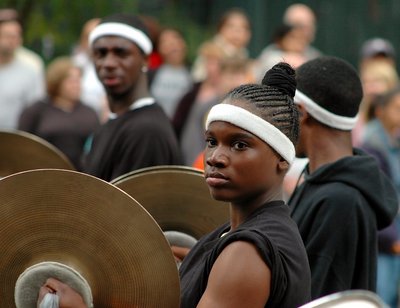
{"label": "brass cymbal directly behind the young woman's chin, middle of three", "polygon": [[163,231],[180,231],[199,239],[229,220],[228,203],[211,197],[203,172],[195,168],[143,168],[111,183],[137,200]]}

